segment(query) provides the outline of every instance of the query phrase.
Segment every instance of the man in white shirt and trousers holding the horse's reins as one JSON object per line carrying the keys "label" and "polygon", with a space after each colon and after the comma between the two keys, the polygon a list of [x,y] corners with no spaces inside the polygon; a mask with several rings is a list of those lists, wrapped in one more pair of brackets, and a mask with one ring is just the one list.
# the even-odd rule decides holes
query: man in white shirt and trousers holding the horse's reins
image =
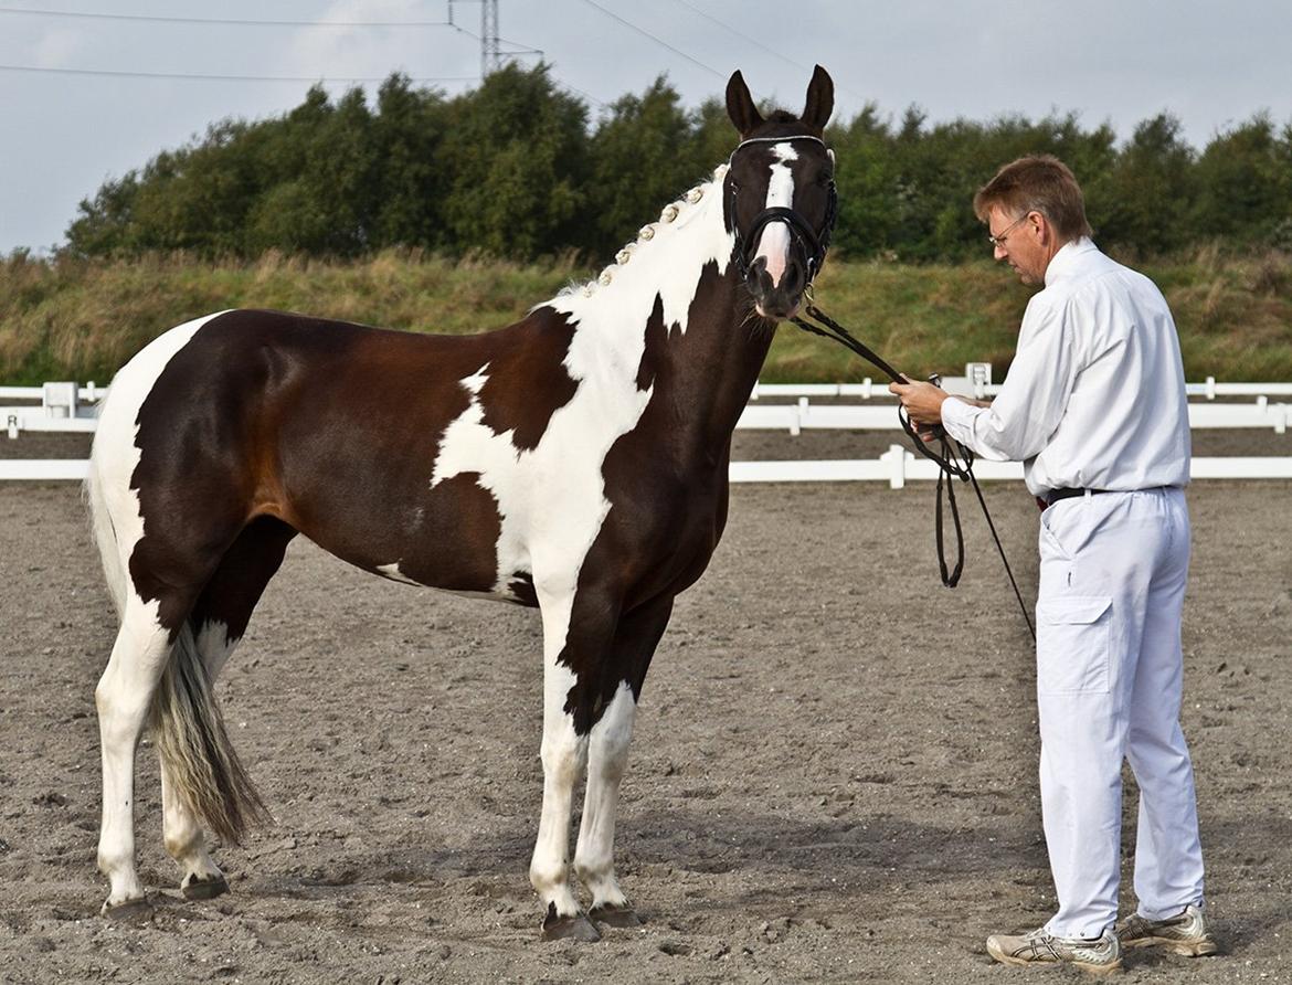
{"label": "man in white shirt and trousers holding the horse's reins", "polygon": [[[1041,813],[1058,911],[994,935],[1006,964],[1103,973],[1124,948],[1213,954],[1193,767],[1180,729],[1189,569],[1189,412],[1171,312],[1090,242],[1081,190],[1052,156],[1006,164],[974,198],[996,260],[1044,284],[988,406],[893,384],[911,418],[978,455],[1023,461],[1043,508],[1036,600]],[[1134,889],[1118,913],[1121,761],[1140,785]]]}

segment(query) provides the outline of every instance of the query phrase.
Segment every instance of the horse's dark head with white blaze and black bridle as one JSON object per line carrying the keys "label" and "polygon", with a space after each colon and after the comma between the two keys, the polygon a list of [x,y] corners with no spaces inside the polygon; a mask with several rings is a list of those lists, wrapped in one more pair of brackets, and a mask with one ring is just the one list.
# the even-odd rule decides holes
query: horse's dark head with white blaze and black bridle
{"label": "horse's dark head with white blaze and black bridle", "polygon": [[791,318],[820,270],[835,225],[835,155],[824,127],[835,83],[819,65],[801,115],[764,119],[740,72],[727,83],[727,115],[740,132],[724,180],[736,270],[764,318]]}

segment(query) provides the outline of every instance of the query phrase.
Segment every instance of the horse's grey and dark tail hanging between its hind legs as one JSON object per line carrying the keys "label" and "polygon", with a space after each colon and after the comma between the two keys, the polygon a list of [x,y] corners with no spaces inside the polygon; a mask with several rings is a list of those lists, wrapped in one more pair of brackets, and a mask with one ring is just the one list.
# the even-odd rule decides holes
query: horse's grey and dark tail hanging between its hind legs
{"label": "horse's grey and dark tail hanging between its hind legs", "polygon": [[229,741],[189,622],[176,637],[152,697],[151,728],[176,796],[221,840],[238,844],[248,827],[270,821]]}

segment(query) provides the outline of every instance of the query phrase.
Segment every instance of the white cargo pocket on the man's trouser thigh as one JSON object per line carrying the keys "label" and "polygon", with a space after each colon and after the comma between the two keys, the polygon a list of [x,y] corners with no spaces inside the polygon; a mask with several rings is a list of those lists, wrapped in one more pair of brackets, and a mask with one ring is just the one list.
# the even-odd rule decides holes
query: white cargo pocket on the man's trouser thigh
{"label": "white cargo pocket on the man's trouser thigh", "polygon": [[1070,595],[1036,604],[1036,693],[1107,694],[1112,598]]}

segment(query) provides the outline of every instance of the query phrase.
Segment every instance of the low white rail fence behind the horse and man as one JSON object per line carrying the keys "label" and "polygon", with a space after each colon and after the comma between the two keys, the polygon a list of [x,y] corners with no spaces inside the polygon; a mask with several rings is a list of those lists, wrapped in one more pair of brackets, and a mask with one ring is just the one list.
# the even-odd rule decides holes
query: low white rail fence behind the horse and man
{"label": "low white rail fence behind the horse and man", "polygon": [[[943,381],[948,390],[973,392],[979,398],[1000,390],[991,384],[988,363],[970,363],[964,377]],[[93,383],[47,383],[44,387],[0,387],[0,399],[40,401],[0,407],[0,423],[9,438],[22,432],[94,430],[94,402],[107,393]],[[1292,383],[1204,383],[1189,384],[1190,397],[1207,403],[1189,405],[1191,428],[1269,428],[1286,434],[1292,420],[1292,401],[1271,402],[1270,397],[1292,397]],[[796,398],[793,403],[760,403],[765,397]],[[817,403],[810,398],[859,398],[877,401],[870,406]],[[1255,397],[1252,402],[1213,403],[1217,397]],[[882,401],[882,402],[879,402]],[[800,434],[805,429],[899,430],[894,402],[885,384],[870,379],[841,384],[757,384],[749,406],[740,415],[736,428],[787,430]],[[78,459],[0,459],[0,481],[4,480],[68,480],[85,478],[89,463]],[[890,445],[877,459],[839,461],[733,461],[733,482],[888,482],[893,489],[908,481],[935,480],[937,465],[916,456],[901,445]],[[1018,463],[986,461],[974,464],[981,480],[1021,480]],[[1292,458],[1195,458],[1193,477],[1204,478],[1292,478]]]}

